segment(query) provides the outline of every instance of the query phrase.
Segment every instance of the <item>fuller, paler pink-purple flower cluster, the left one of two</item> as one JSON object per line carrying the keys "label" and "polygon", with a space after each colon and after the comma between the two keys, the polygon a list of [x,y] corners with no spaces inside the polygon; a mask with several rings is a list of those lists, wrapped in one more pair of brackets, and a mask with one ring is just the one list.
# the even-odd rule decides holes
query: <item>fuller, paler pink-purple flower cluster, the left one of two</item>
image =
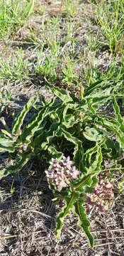
{"label": "fuller, paler pink-purple flower cluster, the left one of two", "polygon": [[79,171],[73,165],[69,156],[63,157],[62,160],[52,159],[49,169],[45,171],[47,180],[55,185],[58,191],[69,186],[71,180],[74,180],[79,175]]}

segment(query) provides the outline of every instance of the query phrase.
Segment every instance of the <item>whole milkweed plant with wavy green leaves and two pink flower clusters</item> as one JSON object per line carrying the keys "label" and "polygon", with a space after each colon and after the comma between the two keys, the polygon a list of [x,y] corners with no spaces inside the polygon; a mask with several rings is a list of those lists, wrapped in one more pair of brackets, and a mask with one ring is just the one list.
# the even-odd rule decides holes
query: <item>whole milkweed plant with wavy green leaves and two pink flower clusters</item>
{"label": "whole milkweed plant with wavy green leaves and two pink flower clusters", "polygon": [[[0,176],[20,171],[35,156],[43,159],[54,197],[64,201],[56,219],[57,238],[61,237],[64,218],[73,212],[94,247],[89,211],[93,206],[101,213],[109,210],[114,172],[123,169],[124,121],[118,105],[121,92],[102,81],[81,90],[81,98],[54,86],[51,90],[54,97],[50,102],[43,98],[38,105],[37,96],[31,98],[14,119],[11,132],[1,129],[0,152],[9,152],[14,161],[0,171]],[[111,106],[111,114],[107,114],[106,105]],[[33,117],[24,123],[32,108]],[[112,162],[108,169],[105,161]]]}

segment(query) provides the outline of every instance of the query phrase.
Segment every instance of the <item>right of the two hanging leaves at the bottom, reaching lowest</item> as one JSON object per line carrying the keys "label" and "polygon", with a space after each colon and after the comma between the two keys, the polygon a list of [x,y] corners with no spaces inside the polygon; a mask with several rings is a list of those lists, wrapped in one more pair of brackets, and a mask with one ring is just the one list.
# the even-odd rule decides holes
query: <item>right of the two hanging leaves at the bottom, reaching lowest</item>
{"label": "right of the two hanging leaves at the bottom, reaching lowest", "polygon": [[78,225],[79,227],[83,228],[84,234],[86,235],[86,238],[89,241],[89,245],[91,247],[94,247],[94,237],[91,235],[90,232],[90,221],[86,216],[86,210],[84,208],[84,201],[78,200],[76,203],[74,203],[74,213],[79,217]]}

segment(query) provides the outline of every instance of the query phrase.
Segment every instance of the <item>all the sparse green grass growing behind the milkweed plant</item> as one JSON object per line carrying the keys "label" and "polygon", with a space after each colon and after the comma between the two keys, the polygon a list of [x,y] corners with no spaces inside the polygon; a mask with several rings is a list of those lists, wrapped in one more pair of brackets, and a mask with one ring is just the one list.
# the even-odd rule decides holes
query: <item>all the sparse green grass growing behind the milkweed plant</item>
{"label": "all the sparse green grass growing behind the milkweed plant", "polygon": [[[24,40],[26,43],[30,43],[30,46],[32,44],[35,47],[33,53],[36,55],[36,60],[31,64],[34,67],[33,72],[52,84],[64,83],[69,89],[75,85],[77,87],[78,85],[89,86],[97,80],[119,82],[123,78],[123,58],[119,65],[113,58],[111,66],[105,70],[99,70],[94,64],[94,60],[98,50],[106,44],[111,53],[123,53],[123,1],[113,1],[112,4],[112,1],[109,0],[108,4],[105,1],[96,4],[96,22],[100,26],[104,38],[102,41],[100,31],[94,34],[88,33],[86,57],[85,48],[84,53],[76,53],[79,39],[74,34],[81,24],[80,17],[78,17],[78,3],[65,0],[62,1],[62,4],[66,10],[64,22],[60,15],[47,16],[45,6],[34,8],[35,14],[41,15],[40,32],[39,34],[35,33],[35,29],[29,26],[28,38]],[[9,1],[1,1],[0,5],[0,33],[3,38],[12,36],[16,28],[23,26],[28,16],[33,13],[33,0],[23,0],[22,2],[14,0],[12,4]],[[0,78],[13,80],[30,75],[32,70],[29,68],[25,54],[26,52],[18,51],[15,56],[1,58]],[[81,63],[84,63],[85,58],[88,61],[84,68],[81,68]],[[84,73],[83,77],[80,77],[81,73]]]}

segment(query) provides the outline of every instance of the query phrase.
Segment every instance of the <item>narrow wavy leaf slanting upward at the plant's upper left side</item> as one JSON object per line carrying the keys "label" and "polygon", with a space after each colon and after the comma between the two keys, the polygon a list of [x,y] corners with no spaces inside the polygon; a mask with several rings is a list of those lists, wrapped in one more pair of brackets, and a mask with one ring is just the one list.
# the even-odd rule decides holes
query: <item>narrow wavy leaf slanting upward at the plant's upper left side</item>
{"label": "narrow wavy leaf slanting upward at the plant's upper left side", "polygon": [[13,134],[21,133],[21,126],[23,124],[23,120],[25,119],[26,114],[30,111],[31,107],[33,107],[33,105],[35,104],[36,100],[37,100],[37,96],[28,100],[26,105],[23,107],[23,110],[21,111],[21,113],[18,115],[18,117],[16,117],[16,119],[13,122],[13,128],[12,128]]}

